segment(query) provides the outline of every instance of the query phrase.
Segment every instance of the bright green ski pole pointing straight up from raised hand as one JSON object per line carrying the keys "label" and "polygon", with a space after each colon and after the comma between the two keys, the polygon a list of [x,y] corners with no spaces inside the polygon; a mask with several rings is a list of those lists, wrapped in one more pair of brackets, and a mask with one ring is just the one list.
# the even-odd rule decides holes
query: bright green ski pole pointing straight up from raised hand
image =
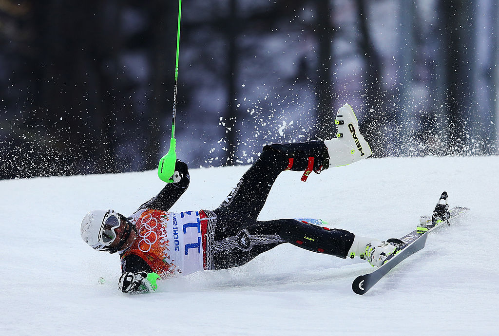
{"label": "bright green ski pole pointing straight up from raised hand", "polygon": [[158,176],[164,182],[173,182],[177,153],[175,152],[177,141],[175,140],[175,117],[177,114],[177,79],[179,77],[179,45],[180,45],[180,12],[182,0],[179,0],[179,21],[177,26],[177,56],[175,59],[175,86],[173,90],[173,112],[172,112],[172,138],[170,139],[170,149],[161,158],[158,164]]}

